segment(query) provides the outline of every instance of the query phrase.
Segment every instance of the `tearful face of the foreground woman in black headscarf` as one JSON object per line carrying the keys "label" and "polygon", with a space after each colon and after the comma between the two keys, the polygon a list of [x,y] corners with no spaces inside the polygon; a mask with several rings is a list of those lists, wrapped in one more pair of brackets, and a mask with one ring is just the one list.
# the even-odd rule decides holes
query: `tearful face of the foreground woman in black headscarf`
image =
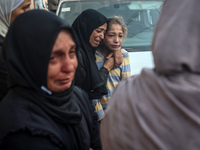
{"label": "tearful face of the foreground woman in black headscarf", "polygon": [[53,92],[70,88],[78,61],[76,44],[67,31],[61,31],[54,43],[48,67],[47,87]]}

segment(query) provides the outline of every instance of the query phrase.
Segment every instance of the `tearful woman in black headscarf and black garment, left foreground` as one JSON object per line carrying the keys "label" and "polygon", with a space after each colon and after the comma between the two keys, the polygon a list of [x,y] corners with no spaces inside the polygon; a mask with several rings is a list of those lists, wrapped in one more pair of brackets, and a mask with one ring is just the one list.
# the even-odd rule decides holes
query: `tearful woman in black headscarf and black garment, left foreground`
{"label": "tearful woman in black headscarf and black garment, left foreground", "polygon": [[73,29],[32,10],[15,19],[5,46],[10,91],[0,104],[0,149],[101,149],[88,97],[73,85]]}

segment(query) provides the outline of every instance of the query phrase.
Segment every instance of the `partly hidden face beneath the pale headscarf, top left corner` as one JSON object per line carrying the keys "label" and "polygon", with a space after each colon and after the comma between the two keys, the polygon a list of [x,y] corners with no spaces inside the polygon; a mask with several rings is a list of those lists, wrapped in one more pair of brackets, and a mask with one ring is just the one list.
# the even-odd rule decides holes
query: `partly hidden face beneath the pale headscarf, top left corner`
{"label": "partly hidden face beneath the pale headscarf, top left corner", "polygon": [[12,11],[10,23],[21,13],[30,10],[31,0],[24,0],[15,10]]}

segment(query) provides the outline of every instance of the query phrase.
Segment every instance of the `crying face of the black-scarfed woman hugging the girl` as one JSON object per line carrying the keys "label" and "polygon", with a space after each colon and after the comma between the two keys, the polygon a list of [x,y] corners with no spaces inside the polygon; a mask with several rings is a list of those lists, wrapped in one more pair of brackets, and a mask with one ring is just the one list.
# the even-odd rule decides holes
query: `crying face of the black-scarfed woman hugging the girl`
{"label": "crying face of the black-scarfed woman hugging the girl", "polygon": [[89,39],[89,42],[92,45],[92,47],[99,46],[100,42],[104,39],[104,34],[106,32],[106,29],[107,29],[107,23],[93,30]]}

